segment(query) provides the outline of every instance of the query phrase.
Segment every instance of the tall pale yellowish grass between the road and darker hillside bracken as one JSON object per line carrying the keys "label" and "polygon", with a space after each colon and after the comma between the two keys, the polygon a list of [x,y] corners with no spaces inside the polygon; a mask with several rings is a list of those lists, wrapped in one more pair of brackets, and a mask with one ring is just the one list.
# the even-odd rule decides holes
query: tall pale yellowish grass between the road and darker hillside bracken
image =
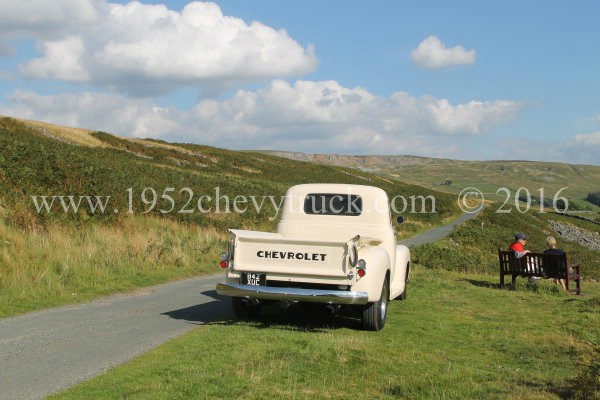
{"label": "tall pale yellowish grass between the road and darker hillside bracken", "polygon": [[155,217],[29,231],[0,219],[0,318],[214,273],[226,240],[212,227]]}

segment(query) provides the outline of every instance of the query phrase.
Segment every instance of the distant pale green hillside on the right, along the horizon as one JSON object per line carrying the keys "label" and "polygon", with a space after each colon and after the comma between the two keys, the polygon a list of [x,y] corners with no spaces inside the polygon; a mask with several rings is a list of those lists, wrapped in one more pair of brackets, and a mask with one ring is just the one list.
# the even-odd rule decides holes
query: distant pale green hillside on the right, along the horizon
{"label": "distant pale green hillside on the right, along the horizon", "polygon": [[[551,201],[561,188],[574,211],[600,211],[583,199],[600,191],[600,167],[541,161],[460,161],[414,156],[350,156],[269,151],[268,154],[323,165],[351,167],[415,185],[458,194],[466,187],[480,189],[486,198],[504,201],[505,187],[511,194],[527,188],[531,196]],[[522,192],[525,195],[525,192]],[[597,214],[596,214],[597,216]]]}

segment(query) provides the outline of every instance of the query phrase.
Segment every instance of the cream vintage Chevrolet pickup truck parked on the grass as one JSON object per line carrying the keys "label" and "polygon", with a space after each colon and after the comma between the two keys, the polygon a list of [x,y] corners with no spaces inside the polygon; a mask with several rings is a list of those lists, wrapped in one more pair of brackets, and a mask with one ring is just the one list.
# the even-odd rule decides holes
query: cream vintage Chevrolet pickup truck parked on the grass
{"label": "cream vintage Chevrolet pickup truck parked on the grass", "polygon": [[[398,223],[402,217],[398,218]],[[410,253],[398,245],[387,194],[346,184],[293,186],[275,233],[229,230],[221,254],[238,318],[268,301],[360,308],[363,329],[385,325],[388,301],[406,298]]]}

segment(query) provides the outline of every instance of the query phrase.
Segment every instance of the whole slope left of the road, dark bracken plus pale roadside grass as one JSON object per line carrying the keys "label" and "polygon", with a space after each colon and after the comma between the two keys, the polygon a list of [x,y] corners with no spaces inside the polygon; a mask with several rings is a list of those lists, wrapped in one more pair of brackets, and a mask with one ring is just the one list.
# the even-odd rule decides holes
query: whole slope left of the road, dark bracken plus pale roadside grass
{"label": "whole slope left of the road, dark bracken plus pale roadside grass", "polygon": [[[457,213],[452,196],[347,168],[29,124],[0,118],[0,318],[216,272],[225,228],[271,230],[276,223],[269,201],[262,213],[250,207],[243,215],[197,209],[163,215],[164,202],[142,214],[140,194],[147,187],[158,196],[174,188],[175,211],[189,200],[187,192],[178,193],[182,188],[194,193],[192,206],[201,195],[214,197],[216,187],[233,201],[238,195],[279,197],[289,186],[308,182],[377,185],[391,196],[434,194],[439,213],[409,216],[405,234]],[[123,212],[128,188],[134,215]],[[112,197],[105,214],[39,215],[32,195]]]}

